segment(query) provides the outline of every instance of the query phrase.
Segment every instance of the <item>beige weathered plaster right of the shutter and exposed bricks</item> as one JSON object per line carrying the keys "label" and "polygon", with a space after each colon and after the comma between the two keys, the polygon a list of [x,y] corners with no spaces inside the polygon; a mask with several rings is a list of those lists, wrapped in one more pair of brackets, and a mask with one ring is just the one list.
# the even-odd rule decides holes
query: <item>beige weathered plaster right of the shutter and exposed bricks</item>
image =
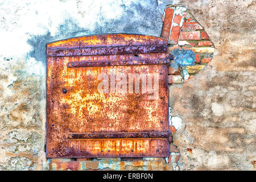
{"label": "beige weathered plaster right of the shutter and exposed bricks", "polygon": [[182,1],[216,53],[205,71],[171,88],[181,170],[255,169],[255,1]]}

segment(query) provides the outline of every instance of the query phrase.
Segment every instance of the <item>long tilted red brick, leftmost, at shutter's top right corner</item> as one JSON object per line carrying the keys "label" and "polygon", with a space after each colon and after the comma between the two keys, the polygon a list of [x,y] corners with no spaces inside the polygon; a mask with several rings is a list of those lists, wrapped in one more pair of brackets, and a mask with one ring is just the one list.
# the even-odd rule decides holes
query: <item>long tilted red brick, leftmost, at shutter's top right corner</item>
{"label": "long tilted red brick, leftmost, at shutter's top right corner", "polygon": [[163,22],[163,28],[162,28],[162,34],[161,34],[163,38],[168,39],[170,36],[173,15],[174,15],[174,9],[167,7],[166,14],[164,15],[164,22]]}

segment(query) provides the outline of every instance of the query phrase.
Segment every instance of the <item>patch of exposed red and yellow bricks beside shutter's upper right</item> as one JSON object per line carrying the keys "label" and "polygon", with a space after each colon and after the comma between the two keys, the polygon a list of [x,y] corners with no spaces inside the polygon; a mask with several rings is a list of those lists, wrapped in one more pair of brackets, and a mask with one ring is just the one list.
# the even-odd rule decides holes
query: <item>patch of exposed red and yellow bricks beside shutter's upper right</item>
{"label": "patch of exposed red and yellow bricks beside shutter's upper right", "polygon": [[[171,61],[169,65],[168,84],[183,84],[205,68],[205,64],[208,64],[212,59],[214,47],[209,40],[208,34],[204,31],[204,27],[193,18],[187,9],[180,6],[168,6],[166,12],[170,12],[170,9],[174,10],[171,11],[171,14],[174,14],[174,18],[170,19],[166,16],[166,19],[163,17],[163,27],[166,27],[166,24],[172,25],[170,28],[171,35],[168,39],[170,44],[168,52],[171,53],[178,48],[180,50],[192,50],[195,53],[195,65],[172,68],[174,61]],[[167,14],[170,14],[168,12]],[[166,28],[163,28],[163,31],[162,35],[167,34]]]}

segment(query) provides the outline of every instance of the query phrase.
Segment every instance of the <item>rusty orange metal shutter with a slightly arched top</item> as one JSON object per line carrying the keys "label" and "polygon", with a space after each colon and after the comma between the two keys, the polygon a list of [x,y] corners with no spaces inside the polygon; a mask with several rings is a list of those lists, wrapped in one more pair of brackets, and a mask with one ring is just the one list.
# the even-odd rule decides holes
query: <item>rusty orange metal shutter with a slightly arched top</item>
{"label": "rusty orange metal shutter with a slightly arched top", "polygon": [[[147,48],[151,45],[167,46],[167,40],[114,34],[72,38],[47,45],[47,158],[169,155],[166,51],[152,53],[143,48],[143,53],[136,55],[138,49],[115,55],[108,51],[101,51],[104,55],[95,55],[95,52],[82,56],[76,52],[48,54],[53,49],[72,52],[88,47]],[[138,64],[133,64],[135,61]],[[108,76],[108,92],[98,92],[101,74]],[[139,93],[136,92],[134,82],[143,74],[159,78],[155,99],[149,99],[152,93],[143,92],[142,80]],[[122,79],[127,76],[127,80],[129,75],[134,76],[133,88],[130,90],[127,84],[126,92],[115,92],[118,75],[125,75]]]}

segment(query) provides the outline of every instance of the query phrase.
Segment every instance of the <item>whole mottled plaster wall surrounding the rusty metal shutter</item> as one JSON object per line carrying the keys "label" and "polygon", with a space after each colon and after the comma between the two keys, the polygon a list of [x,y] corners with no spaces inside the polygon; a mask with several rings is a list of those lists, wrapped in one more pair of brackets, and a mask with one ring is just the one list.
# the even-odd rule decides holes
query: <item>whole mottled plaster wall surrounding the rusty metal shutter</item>
{"label": "whole mottled plaster wall surrounding the rusty metal shutter", "polygon": [[[169,70],[169,158],[47,160],[46,44],[92,34],[161,36],[166,5],[186,7],[177,15],[200,23],[198,39],[181,28],[182,42],[169,42],[169,51],[182,46],[197,61]],[[255,170],[255,14],[253,0],[2,1],[0,170]],[[199,43],[204,31],[207,45]],[[196,52],[200,44],[209,52]]]}

